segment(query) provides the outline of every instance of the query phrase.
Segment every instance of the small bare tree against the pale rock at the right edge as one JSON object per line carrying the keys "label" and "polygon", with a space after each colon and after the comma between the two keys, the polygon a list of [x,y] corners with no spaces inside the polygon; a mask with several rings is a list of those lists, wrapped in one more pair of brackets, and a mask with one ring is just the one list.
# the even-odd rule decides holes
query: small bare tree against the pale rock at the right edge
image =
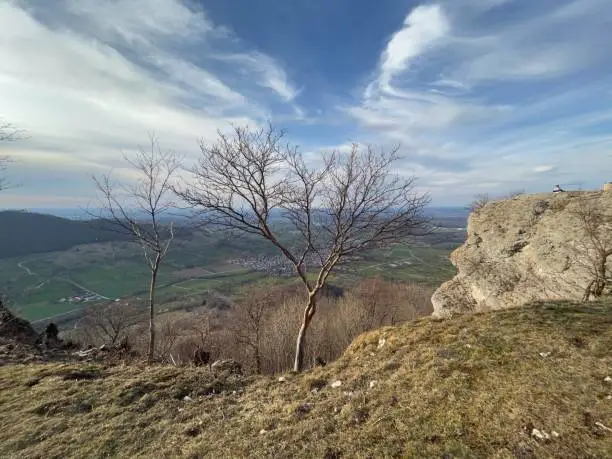
{"label": "small bare tree against the pale rock at the right edge", "polygon": [[612,282],[612,273],[607,269],[608,258],[612,256],[612,215],[590,200],[583,201],[575,215],[586,236],[586,241],[578,247],[578,260],[591,276],[583,296],[588,301],[603,295]]}

